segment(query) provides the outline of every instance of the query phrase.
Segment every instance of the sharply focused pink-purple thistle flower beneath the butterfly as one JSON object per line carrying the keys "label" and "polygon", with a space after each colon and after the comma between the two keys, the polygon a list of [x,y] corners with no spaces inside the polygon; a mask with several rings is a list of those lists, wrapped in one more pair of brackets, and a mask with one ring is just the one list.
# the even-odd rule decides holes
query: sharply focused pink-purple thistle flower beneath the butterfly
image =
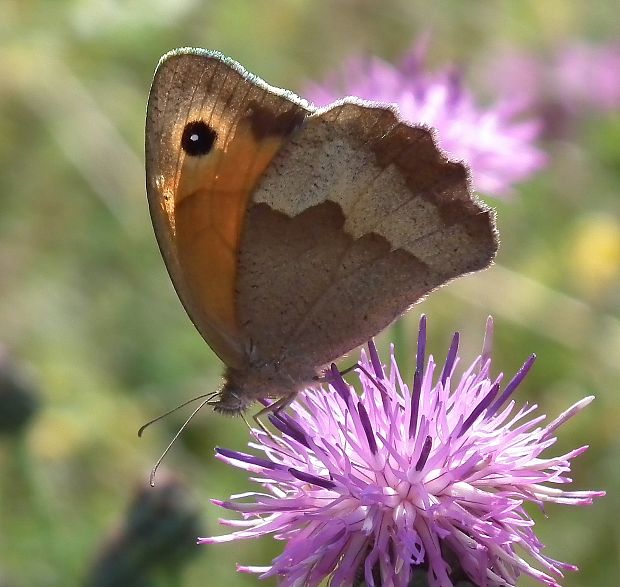
{"label": "sharply focused pink-purple thistle flower beneath the butterfly", "polygon": [[[459,335],[440,368],[425,358],[420,322],[416,372],[409,387],[392,357],[389,372],[374,345],[362,353],[358,396],[332,366],[328,390],[300,393],[290,413],[274,413],[280,435],[254,430],[263,456],[218,448],[226,463],[252,473],[264,488],[213,500],[244,520],[222,520],[231,534],[202,544],[257,538],[285,541],[271,566],[242,572],[276,576],[282,586],[359,584],[406,587],[425,571],[432,587],[467,577],[486,587],[515,586],[529,575],[550,586],[572,565],[542,553],[524,504],[588,505],[601,491],[566,491],[583,446],[542,458],[555,431],[588,405],[587,397],[543,425],[536,406],[511,399],[531,356],[503,385],[490,375],[489,319],[482,355],[459,376]],[[519,552],[535,561],[530,565]]]}

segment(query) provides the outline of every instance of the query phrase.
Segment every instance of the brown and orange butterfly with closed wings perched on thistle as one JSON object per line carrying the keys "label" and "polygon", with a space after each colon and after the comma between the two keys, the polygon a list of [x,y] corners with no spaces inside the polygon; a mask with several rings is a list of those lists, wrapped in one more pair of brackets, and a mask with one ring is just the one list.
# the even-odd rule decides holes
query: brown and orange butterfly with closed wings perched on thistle
{"label": "brown and orange butterfly with closed wings perched on thistle", "polygon": [[159,62],[146,181],[174,287],[226,365],[227,414],[294,397],[497,249],[429,128],[357,98],[315,108],[215,51]]}

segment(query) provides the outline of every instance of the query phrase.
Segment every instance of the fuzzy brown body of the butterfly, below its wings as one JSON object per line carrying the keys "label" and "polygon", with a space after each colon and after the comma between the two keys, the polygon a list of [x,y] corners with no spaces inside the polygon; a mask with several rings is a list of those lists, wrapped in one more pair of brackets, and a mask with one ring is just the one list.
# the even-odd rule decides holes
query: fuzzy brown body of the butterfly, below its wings
{"label": "fuzzy brown body of the butterfly, below its wings", "polygon": [[266,398],[289,397],[312,385],[314,369],[280,362],[248,363],[241,369],[227,367],[216,412],[238,415],[253,402]]}

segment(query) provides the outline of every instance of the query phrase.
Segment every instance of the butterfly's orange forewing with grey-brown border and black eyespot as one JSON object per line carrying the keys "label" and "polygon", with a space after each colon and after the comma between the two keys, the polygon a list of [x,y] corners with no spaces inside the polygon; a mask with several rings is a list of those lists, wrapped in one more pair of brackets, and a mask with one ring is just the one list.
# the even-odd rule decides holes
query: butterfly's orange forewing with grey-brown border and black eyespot
{"label": "butterfly's orange forewing with grey-brown border and black eyespot", "polygon": [[155,74],[146,128],[155,232],[190,318],[228,365],[245,360],[235,287],[248,201],[307,113],[217,53],[173,52]]}

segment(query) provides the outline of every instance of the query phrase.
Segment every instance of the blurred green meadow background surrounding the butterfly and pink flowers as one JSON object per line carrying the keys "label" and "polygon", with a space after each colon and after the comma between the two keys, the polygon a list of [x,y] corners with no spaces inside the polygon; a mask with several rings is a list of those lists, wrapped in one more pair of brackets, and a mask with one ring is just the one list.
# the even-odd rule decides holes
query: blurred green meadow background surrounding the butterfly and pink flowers
{"label": "blurred green meadow background surrounding the butterfly and pink flowers", "polygon": [[[266,564],[277,543],[194,542],[224,531],[210,497],[250,488],[213,458],[215,445],[245,446],[243,422],[203,410],[155,489],[149,470],[185,413],[136,436],[145,421],[216,389],[221,373],[176,298],[147,211],[153,70],[174,47],[202,46],[302,92],[350,56],[397,60],[426,33],[431,66],[462,66],[489,103],[502,85],[490,75],[498,56],[527,54],[545,66],[572,44],[617,42],[620,21],[611,0],[0,0],[2,587],[257,582],[235,562]],[[497,368],[512,374],[538,355],[522,400],[555,417],[596,395],[553,450],[589,444],[575,486],[608,496],[536,519],[548,554],[581,568],[564,585],[612,587],[620,582],[620,114],[585,102],[566,110],[557,98],[546,104],[557,124],[539,141],[547,168],[509,200],[487,199],[499,215],[497,264],[433,294],[379,342],[397,341],[411,375],[420,312],[438,357],[458,329],[468,359],[493,314]]]}

